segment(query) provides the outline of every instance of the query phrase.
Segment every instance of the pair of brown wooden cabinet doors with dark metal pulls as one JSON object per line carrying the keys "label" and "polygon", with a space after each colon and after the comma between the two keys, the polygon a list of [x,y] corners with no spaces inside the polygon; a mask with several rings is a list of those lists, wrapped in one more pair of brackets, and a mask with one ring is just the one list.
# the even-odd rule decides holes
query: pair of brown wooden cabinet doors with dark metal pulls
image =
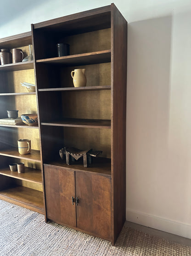
{"label": "pair of brown wooden cabinet doors with dark metal pulls", "polygon": [[48,220],[110,240],[111,178],[44,165]]}

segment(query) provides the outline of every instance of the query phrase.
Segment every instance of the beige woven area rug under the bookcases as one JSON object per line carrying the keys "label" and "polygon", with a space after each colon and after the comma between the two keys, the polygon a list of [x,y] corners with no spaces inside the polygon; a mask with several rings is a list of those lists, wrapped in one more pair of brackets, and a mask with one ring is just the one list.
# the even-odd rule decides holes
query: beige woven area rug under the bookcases
{"label": "beige woven area rug under the bookcases", "polygon": [[191,256],[191,247],[125,226],[112,246],[0,200],[0,256]]}

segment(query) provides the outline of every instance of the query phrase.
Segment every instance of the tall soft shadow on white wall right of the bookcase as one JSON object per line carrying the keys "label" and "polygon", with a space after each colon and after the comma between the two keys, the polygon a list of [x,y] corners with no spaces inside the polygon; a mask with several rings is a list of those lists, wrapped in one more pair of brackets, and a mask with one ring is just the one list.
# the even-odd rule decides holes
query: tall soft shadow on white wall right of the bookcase
{"label": "tall soft shadow on white wall right of the bookcase", "polygon": [[171,30],[171,16],[128,24],[127,202],[150,214],[163,198],[158,189],[168,153]]}

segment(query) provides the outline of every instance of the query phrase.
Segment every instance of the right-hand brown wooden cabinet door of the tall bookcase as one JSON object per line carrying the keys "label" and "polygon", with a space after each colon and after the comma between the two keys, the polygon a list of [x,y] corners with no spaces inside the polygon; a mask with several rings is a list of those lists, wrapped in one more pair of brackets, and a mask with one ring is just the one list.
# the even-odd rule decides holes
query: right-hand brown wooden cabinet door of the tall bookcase
{"label": "right-hand brown wooden cabinet door of the tall bookcase", "polygon": [[101,238],[111,238],[111,178],[76,172],[77,227]]}

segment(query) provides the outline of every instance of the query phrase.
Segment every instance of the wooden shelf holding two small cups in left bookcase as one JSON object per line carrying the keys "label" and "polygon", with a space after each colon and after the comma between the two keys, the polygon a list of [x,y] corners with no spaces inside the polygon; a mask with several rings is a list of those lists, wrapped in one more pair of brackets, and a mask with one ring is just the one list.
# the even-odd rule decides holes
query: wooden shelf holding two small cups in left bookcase
{"label": "wooden shelf holding two small cups in left bookcase", "polygon": [[0,169],[0,174],[9,176],[15,179],[21,179],[25,181],[42,184],[41,170],[30,168],[30,167],[25,167],[24,173],[11,172],[10,168],[7,167],[7,168]]}

